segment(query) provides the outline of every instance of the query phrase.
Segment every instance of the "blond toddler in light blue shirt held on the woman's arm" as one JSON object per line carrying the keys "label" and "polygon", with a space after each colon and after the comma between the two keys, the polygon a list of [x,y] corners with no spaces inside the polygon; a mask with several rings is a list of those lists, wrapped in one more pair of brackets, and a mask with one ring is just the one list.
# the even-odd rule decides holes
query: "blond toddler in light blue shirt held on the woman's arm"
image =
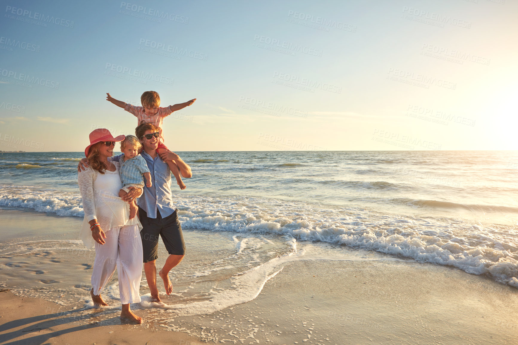
{"label": "blond toddler in light blue shirt held on the woman's arm", "polygon": [[[142,176],[146,178],[146,186],[151,187],[151,173],[146,160],[138,154],[140,148],[142,148],[142,144],[134,135],[126,135],[126,138],[121,141],[121,152],[124,155],[119,161],[121,164],[119,172],[123,186],[119,191],[120,197],[123,197],[130,191],[128,187],[143,188]],[[130,202],[130,219],[135,218],[137,210],[136,199],[134,199]]]}

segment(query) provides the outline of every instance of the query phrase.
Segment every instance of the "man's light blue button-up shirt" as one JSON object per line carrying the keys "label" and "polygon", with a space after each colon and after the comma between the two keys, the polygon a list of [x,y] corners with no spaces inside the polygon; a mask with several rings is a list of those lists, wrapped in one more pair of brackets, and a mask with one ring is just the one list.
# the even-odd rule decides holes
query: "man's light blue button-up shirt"
{"label": "man's light blue button-up shirt", "polygon": [[[172,203],[171,194],[171,170],[167,163],[162,161],[159,155],[153,159],[145,151],[140,152],[146,160],[151,172],[151,187],[144,187],[143,194],[138,198],[138,206],[148,214],[149,218],[156,218],[156,210],[160,211],[162,218],[166,218],[175,212],[176,207]],[[120,157],[112,157],[113,161],[119,161]]]}

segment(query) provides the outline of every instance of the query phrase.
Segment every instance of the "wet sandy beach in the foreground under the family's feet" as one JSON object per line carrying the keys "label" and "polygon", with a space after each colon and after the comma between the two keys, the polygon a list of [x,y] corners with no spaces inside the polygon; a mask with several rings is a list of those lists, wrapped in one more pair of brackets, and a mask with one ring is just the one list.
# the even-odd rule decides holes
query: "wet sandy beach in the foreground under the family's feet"
{"label": "wet sandy beach in the foreground under the family's feet", "polygon": [[[73,227],[79,221],[30,211],[0,211],[3,224],[20,218],[24,224],[45,226],[49,222],[61,229],[60,235],[49,234],[45,238],[73,237]],[[3,227],[3,233],[4,229],[9,226]],[[190,249],[185,266],[200,258],[205,261],[205,249],[192,242],[193,236],[199,234],[185,229],[184,236]],[[200,302],[203,298],[182,298],[181,294],[164,295],[169,309],[152,308],[145,303],[143,307],[132,305],[145,320],[142,325],[121,324],[120,305],[107,309],[89,307],[86,286],[89,269],[77,271],[82,274],[82,278],[76,277],[76,280],[85,284],[86,287],[80,286],[83,289],[67,293],[65,287],[60,287],[45,295],[45,290],[50,289],[47,286],[55,284],[41,283],[44,280],[41,277],[54,278],[55,272],[44,263],[44,257],[38,258],[40,266],[45,267],[44,273],[28,272],[33,279],[29,281],[16,277],[20,276],[18,272],[22,274],[27,270],[34,255],[23,254],[23,258],[3,255],[2,289],[10,291],[0,294],[0,343],[515,343],[518,326],[514,320],[518,312],[512,306],[518,304],[518,291],[514,287],[455,268],[372,251],[341,247],[337,254],[336,247],[327,243],[297,242],[297,253],[281,256],[284,261],[272,266],[278,273],[264,282],[255,298],[217,308],[217,311],[193,313],[199,309],[194,307],[196,303],[205,303]],[[24,262],[26,266],[9,266],[15,262]],[[210,266],[210,262],[205,265]],[[175,284],[174,277],[171,278]],[[218,279],[223,286],[224,279]],[[25,286],[20,285],[21,282]],[[198,284],[204,285],[204,282]],[[178,286],[175,285],[175,289],[180,289]],[[146,292],[142,282],[141,294]],[[57,293],[63,296],[58,298]],[[39,298],[25,297],[37,294]],[[188,305],[189,299],[193,308],[183,314],[171,303],[178,300],[179,305]],[[217,298],[205,299],[210,303]],[[109,304],[112,303],[117,301],[111,299]]]}

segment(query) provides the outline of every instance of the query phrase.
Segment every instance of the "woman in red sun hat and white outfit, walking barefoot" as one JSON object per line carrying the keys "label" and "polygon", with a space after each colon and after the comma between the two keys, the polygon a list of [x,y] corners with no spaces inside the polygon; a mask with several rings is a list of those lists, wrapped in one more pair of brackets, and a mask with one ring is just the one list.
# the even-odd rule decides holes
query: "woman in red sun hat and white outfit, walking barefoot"
{"label": "woman in red sun hat and white outfit, walking barefoot", "polygon": [[[130,208],[118,195],[122,188],[119,163],[109,162],[116,141],[105,128],[90,133],[90,145],[84,150],[90,166],[78,172],[78,184],[83,198],[84,220],[80,238],[88,248],[95,247],[92,271],[92,300],[97,306],[107,306],[100,291],[110,280],[115,268],[119,278],[121,319],[142,323],[142,318],[130,310],[130,303],[139,303],[142,277],[142,241],[140,222],[129,219]],[[125,195],[129,201],[142,194],[133,189]],[[95,241],[95,242],[94,242]]]}

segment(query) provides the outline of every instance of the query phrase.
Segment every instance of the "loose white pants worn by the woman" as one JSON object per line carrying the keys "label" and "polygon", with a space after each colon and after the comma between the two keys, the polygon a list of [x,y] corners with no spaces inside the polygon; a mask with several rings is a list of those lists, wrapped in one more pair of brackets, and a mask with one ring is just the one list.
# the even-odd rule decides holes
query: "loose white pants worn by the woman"
{"label": "loose white pants worn by the woman", "polygon": [[105,232],[104,245],[95,242],[92,272],[94,295],[99,295],[117,267],[121,304],[140,302],[142,240],[137,225],[113,227]]}

